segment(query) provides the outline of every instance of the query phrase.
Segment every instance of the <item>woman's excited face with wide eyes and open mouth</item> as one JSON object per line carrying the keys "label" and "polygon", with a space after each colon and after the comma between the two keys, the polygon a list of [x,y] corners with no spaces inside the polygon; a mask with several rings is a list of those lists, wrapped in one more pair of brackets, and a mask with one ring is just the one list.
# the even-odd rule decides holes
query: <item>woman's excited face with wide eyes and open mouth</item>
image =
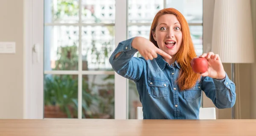
{"label": "woman's excited face with wide eyes and open mouth", "polygon": [[155,32],[152,34],[158,47],[174,58],[182,43],[182,32],[177,17],[173,14],[159,17]]}

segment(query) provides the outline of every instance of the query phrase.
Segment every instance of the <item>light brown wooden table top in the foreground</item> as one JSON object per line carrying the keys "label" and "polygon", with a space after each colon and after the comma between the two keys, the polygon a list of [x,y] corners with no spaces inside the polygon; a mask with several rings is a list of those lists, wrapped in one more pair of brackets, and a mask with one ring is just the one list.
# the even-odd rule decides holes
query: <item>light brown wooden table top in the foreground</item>
{"label": "light brown wooden table top in the foreground", "polygon": [[0,136],[256,136],[256,120],[0,120]]}

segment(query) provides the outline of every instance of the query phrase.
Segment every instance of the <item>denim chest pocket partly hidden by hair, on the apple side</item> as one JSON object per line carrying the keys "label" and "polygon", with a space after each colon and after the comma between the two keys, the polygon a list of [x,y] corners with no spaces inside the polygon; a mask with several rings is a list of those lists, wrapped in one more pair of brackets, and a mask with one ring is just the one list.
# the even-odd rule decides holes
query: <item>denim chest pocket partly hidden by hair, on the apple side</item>
{"label": "denim chest pocket partly hidden by hair, on the apple side", "polygon": [[183,91],[184,99],[196,100],[197,98],[199,98],[201,96],[201,87],[202,87],[202,83],[196,83],[194,87],[188,90],[184,90]]}

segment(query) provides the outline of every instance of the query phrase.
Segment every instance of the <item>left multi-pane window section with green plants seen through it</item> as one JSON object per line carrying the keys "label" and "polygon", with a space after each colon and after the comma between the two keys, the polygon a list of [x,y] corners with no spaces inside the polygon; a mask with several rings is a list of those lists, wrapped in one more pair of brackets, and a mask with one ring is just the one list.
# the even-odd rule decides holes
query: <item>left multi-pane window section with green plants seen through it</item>
{"label": "left multi-pane window section with green plants seen through it", "polygon": [[114,119],[115,0],[45,0],[44,118]]}

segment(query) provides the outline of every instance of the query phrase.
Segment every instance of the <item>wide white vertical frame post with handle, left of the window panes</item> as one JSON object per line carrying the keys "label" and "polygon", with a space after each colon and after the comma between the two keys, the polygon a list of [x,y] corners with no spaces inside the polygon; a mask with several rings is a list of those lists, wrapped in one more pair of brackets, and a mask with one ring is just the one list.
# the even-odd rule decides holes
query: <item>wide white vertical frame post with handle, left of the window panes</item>
{"label": "wide white vertical frame post with handle, left of the window panes", "polygon": [[[43,0],[23,1],[23,118],[43,119],[44,92],[43,92],[43,29],[44,29]],[[38,54],[33,51],[38,44]]]}

